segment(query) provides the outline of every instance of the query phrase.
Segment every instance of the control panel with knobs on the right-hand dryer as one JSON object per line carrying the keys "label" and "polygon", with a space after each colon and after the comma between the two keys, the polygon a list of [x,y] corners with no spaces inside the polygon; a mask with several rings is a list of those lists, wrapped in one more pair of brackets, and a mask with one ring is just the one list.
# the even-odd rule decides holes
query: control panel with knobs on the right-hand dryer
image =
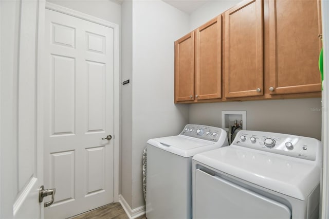
{"label": "control panel with knobs on the right-hand dryer", "polygon": [[237,133],[232,144],[307,160],[316,160],[322,151],[315,138],[249,130]]}

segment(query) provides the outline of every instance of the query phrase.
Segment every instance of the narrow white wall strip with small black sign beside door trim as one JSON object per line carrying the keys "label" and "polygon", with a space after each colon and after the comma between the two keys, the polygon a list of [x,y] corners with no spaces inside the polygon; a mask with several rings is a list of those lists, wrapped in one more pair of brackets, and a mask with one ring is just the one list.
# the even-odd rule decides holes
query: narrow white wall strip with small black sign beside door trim
{"label": "narrow white wall strip with small black sign beside door trim", "polygon": [[121,86],[121,163],[120,185],[121,195],[127,204],[132,206],[132,147],[133,147],[133,3],[123,1],[121,5],[121,79],[130,79],[130,83]]}

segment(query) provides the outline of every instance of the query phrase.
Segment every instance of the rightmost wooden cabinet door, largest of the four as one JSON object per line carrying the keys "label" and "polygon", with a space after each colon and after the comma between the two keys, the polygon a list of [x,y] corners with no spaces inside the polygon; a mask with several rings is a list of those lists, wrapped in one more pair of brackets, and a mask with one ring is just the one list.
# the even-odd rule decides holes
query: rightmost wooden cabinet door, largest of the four
{"label": "rightmost wooden cabinet door, largest of the four", "polygon": [[317,0],[269,1],[270,94],[321,91],[318,7]]}

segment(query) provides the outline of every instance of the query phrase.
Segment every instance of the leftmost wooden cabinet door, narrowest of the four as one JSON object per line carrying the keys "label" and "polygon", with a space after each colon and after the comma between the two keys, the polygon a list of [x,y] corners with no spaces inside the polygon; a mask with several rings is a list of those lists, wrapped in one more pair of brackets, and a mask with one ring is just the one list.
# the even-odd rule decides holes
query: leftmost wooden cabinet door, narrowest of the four
{"label": "leftmost wooden cabinet door, narrowest of the four", "polygon": [[194,100],[194,32],[175,41],[175,103]]}

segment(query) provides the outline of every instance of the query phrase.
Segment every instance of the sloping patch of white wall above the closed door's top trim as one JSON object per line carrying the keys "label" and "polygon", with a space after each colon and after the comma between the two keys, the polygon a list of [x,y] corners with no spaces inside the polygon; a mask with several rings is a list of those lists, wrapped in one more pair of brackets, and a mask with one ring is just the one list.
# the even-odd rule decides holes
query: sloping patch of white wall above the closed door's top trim
{"label": "sloping patch of white wall above the closed door's top trim", "polygon": [[109,0],[46,0],[72,10],[86,13],[120,26],[121,5]]}

